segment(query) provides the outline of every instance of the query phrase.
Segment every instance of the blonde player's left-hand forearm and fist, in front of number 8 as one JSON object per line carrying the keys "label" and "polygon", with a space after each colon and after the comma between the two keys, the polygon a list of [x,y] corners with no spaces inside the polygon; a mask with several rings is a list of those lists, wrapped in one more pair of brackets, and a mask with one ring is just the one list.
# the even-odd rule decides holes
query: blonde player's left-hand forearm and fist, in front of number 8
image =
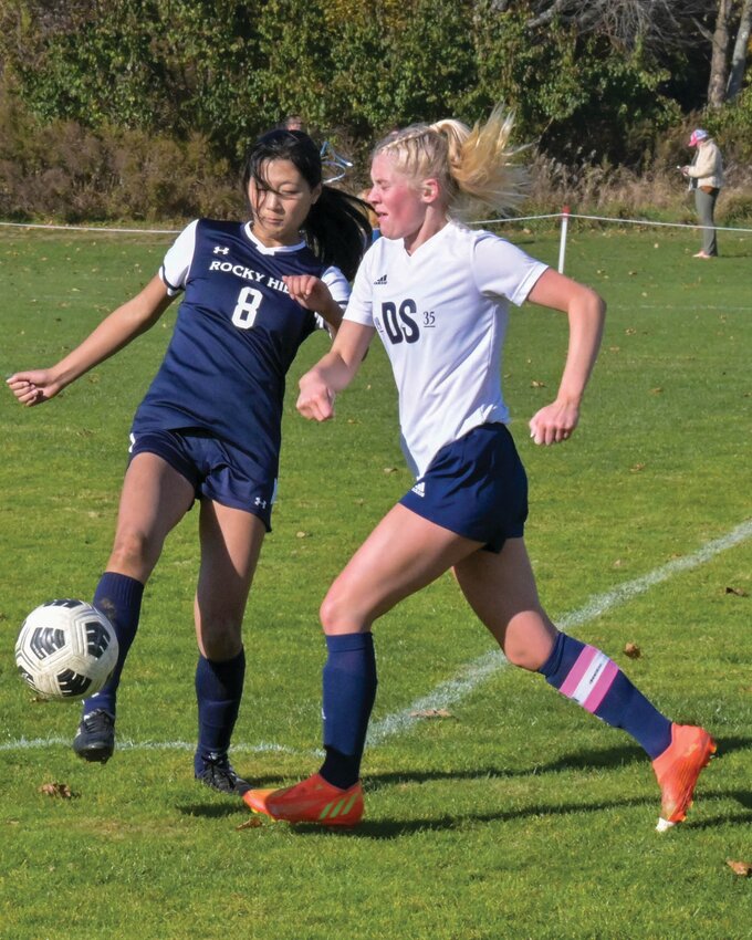
{"label": "blonde player's left-hand forearm and fist, in front of number 8", "polygon": [[334,417],[334,397],[353,380],[376,331],[346,320],[331,352],[301,378],[297,410],[312,421]]}

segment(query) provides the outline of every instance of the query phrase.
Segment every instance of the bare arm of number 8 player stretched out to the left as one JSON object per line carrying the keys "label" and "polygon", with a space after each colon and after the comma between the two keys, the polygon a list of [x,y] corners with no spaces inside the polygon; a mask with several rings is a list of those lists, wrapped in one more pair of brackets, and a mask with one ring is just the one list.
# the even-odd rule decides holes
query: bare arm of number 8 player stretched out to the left
{"label": "bare arm of number 8 player stretched out to the left", "polygon": [[7,379],[8,387],[27,407],[49,401],[88,369],[145,333],[159,320],[171,300],[164,282],[153,278],[135,297],[105,317],[65,358],[46,369],[17,372]]}

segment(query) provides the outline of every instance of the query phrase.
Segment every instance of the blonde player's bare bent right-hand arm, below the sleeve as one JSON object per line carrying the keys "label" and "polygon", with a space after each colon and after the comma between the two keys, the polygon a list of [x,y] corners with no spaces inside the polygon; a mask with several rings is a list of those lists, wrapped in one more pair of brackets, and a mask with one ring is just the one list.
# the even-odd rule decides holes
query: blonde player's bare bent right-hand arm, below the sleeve
{"label": "blonde player's bare bent right-hand arm, below the sleeve", "polygon": [[530,421],[535,443],[558,443],[577,427],[585,386],[600,348],[606,304],[591,288],[551,269],[541,275],[528,300],[563,311],[570,320],[570,345],[556,399]]}

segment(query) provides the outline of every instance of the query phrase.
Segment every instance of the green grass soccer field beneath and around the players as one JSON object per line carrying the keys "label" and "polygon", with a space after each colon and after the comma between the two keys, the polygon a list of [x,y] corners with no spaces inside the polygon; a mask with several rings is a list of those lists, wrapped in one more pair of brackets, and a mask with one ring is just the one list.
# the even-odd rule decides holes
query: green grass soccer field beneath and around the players
{"label": "green grass soccer field beneath and around the players", "polygon": [[[555,263],[555,232],[512,240]],[[564,318],[513,314],[504,385],[531,479],[542,598],[719,753],[688,822],[658,835],[631,739],[492,657],[449,576],[376,628],[379,693],[353,832],[239,828],[240,801],[192,781],[196,513],[147,589],[106,766],[72,754],[76,706],[32,701],[13,664],[24,615],[90,597],[104,564],[133,411],[165,324],[41,408],[0,396],[2,940],[662,940],[752,937],[752,238],[691,258],[694,232],[578,231],[567,273],[609,304],[582,425],[535,448]],[[168,239],[0,233],[0,366],[48,365],[157,269]],[[374,347],[334,422],[294,412],[247,614],[233,762],[260,785],[317,767],[328,582],[410,485]],[[626,644],[641,656],[629,659]],[[436,712],[432,718],[424,717]],[[422,713],[422,714],[421,714]],[[72,798],[40,792],[66,784]]]}

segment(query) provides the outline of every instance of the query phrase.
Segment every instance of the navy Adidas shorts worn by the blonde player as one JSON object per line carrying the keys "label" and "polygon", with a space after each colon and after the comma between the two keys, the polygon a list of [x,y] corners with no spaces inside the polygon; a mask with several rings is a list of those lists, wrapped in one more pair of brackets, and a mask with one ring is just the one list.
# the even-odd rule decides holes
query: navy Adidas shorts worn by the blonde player
{"label": "navy Adidas shorts worn by the blonde player", "polygon": [[480,425],[442,447],[399,501],[474,542],[501,552],[520,539],[528,519],[528,476],[504,425]]}

